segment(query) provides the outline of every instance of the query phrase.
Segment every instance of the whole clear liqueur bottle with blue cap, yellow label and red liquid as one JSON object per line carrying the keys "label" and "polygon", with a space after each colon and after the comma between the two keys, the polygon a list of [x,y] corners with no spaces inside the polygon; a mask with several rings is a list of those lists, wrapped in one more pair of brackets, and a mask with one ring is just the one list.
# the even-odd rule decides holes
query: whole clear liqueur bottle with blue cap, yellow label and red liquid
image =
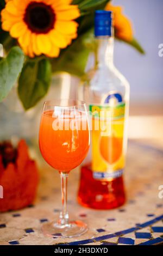
{"label": "whole clear liqueur bottle with blue cap, yellow label and red liquid", "polygon": [[78,202],[95,209],[122,205],[127,149],[129,83],[113,63],[111,11],[95,14],[95,68],[87,72],[79,98],[90,111],[91,148],[81,167]]}

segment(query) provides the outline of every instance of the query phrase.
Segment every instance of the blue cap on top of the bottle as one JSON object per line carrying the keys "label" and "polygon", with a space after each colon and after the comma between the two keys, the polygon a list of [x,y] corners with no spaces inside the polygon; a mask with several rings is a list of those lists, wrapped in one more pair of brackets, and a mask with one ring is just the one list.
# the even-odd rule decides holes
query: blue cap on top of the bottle
{"label": "blue cap on top of the bottle", "polygon": [[95,11],[95,36],[111,36],[112,12],[105,10]]}

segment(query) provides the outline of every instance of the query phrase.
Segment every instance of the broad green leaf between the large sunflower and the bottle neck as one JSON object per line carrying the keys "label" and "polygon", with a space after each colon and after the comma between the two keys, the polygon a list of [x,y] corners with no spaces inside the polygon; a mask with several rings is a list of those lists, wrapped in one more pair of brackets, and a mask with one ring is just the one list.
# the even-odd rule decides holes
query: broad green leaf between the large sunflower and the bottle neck
{"label": "broad green leaf between the large sunflower and the bottle neck", "polygon": [[72,75],[83,76],[90,49],[86,47],[85,40],[90,32],[78,36],[65,50],[62,50],[59,58],[52,60],[53,72],[65,71]]}

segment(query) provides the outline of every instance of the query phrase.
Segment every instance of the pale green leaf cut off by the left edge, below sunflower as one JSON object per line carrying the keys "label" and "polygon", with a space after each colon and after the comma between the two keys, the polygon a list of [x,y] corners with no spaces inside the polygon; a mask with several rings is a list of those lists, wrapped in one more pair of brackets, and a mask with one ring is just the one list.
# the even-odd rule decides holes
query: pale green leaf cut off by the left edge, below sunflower
{"label": "pale green leaf cut off by the left edge, below sunflower", "polygon": [[0,59],[0,102],[9,94],[21,72],[24,54],[20,47],[12,47],[7,58]]}

